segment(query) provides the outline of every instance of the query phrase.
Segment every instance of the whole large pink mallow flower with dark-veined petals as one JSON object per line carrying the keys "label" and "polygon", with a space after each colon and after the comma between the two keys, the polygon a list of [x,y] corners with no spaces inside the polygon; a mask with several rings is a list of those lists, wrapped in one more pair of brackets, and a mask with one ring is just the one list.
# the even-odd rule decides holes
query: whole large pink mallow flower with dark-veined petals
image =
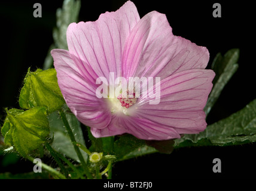
{"label": "whole large pink mallow flower with dark-veined petals", "polygon": [[[95,137],[129,133],[167,140],[205,130],[203,108],[215,76],[205,69],[209,52],[174,36],[164,14],[152,11],[140,19],[127,1],[97,21],[71,23],[66,35],[69,51],[51,51],[59,87]],[[154,98],[142,96],[125,99],[128,91],[115,98],[97,97],[96,81],[103,77],[110,82],[109,73],[125,79],[160,77],[160,102],[150,104]]]}

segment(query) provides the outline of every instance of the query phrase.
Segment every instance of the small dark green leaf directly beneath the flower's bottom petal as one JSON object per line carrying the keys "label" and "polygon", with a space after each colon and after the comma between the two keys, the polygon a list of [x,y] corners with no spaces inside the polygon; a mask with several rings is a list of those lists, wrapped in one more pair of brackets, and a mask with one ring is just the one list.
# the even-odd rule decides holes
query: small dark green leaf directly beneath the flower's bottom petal
{"label": "small dark green leaf directly beneath the flower's bottom petal", "polygon": [[114,143],[114,153],[117,161],[123,161],[138,156],[157,152],[153,147],[147,146],[144,140],[138,139],[133,135],[122,135]]}

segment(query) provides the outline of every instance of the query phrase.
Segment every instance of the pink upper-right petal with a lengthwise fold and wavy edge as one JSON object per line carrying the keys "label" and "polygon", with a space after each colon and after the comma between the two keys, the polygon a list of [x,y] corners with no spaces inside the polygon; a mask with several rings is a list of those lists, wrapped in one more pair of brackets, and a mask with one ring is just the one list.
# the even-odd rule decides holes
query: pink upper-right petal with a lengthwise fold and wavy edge
{"label": "pink upper-right petal with a lengthwise fold and wavy edge", "polygon": [[209,52],[172,34],[166,16],[157,11],[145,15],[133,27],[124,47],[123,76],[161,79],[188,69],[205,69]]}

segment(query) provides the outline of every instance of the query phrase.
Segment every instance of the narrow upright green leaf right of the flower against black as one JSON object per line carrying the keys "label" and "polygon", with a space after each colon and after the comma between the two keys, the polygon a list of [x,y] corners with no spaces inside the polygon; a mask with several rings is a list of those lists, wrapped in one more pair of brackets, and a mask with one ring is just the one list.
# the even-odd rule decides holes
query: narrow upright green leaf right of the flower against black
{"label": "narrow upright green leaf right of the flower against black", "polygon": [[221,91],[234,75],[238,68],[238,61],[239,58],[239,49],[231,49],[225,53],[224,57],[221,56],[220,53],[214,58],[212,63],[212,70],[214,70],[216,76],[212,83],[214,87],[212,88],[211,94],[209,95],[208,101],[205,106],[205,113],[206,116],[211,111],[212,107],[214,106],[215,102],[220,97]]}

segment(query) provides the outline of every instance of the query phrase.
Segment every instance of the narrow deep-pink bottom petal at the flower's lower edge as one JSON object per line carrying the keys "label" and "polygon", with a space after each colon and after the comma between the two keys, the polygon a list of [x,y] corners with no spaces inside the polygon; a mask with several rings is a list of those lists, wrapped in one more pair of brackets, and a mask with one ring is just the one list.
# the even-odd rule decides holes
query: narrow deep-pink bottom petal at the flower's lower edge
{"label": "narrow deep-pink bottom petal at the flower's lower edge", "polygon": [[129,133],[144,140],[180,138],[176,130],[166,125],[159,125],[148,119],[134,118],[125,115],[114,115],[107,128],[100,130],[91,128],[91,132],[95,137],[108,137]]}

